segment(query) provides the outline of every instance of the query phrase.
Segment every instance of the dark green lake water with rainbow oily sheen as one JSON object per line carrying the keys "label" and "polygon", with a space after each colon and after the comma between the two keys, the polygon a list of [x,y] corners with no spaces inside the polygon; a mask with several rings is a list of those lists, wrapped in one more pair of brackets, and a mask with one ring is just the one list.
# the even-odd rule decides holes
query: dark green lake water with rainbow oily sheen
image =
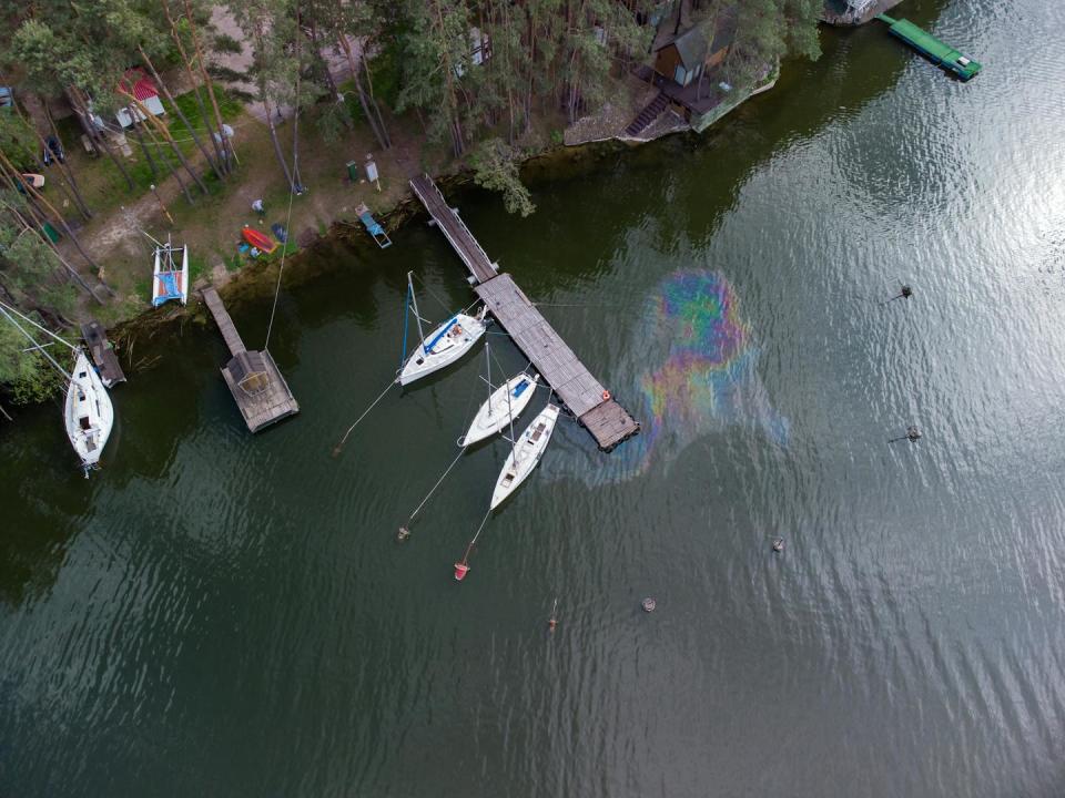
{"label": "dark green lake water with rainbow oily sheen", "polygon": [[[454,195],[645,427],[606,456],[564,423],[462,585],[505,442],[396,530],[483,357],[331,457],[407,269],[473,300],[423,219],[283,291],[275,429],[193,325],[138,344],[164,357],[92,479],[58,408],[0,428],[0,795],[1065,794],[1059,11],[906,0],[984,73],[825,31],[707,136],[532,170],[527,219]],[[233,307],[251,346],[268,291]]]}

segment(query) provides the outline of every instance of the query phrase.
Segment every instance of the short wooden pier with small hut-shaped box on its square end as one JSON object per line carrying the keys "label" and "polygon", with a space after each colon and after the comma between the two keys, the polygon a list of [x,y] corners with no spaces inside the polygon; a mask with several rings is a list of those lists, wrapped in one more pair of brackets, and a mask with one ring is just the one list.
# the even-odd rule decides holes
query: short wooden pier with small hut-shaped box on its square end
{"label": "short wooden pier with small hut-shaped box on its square end", "polygon": [[300,405],[288,390],[288,383],[281,376],[273,356],[266,350],[247,350],[222,304],[222,297],[214,288],[204,288],[202,296],[233,356],[222,369],[222,377],[247,428],[257,432],[263,427],[300,412]]}

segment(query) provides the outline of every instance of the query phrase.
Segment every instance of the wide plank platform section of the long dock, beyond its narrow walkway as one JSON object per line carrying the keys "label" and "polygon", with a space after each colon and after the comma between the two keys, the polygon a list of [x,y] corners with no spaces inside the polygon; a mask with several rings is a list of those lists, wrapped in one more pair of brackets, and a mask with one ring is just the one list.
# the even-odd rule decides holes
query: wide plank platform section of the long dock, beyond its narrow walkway
{"label": "wide plank platform section of the long dock, beyond its narrow walkway", "polygon": [[475,290],[566,408],[591,432],[600,449],[610,451],[640,431],[640,424],[623,407],[605,398],[607,389],[585,368],[510,275],[501,274]]}

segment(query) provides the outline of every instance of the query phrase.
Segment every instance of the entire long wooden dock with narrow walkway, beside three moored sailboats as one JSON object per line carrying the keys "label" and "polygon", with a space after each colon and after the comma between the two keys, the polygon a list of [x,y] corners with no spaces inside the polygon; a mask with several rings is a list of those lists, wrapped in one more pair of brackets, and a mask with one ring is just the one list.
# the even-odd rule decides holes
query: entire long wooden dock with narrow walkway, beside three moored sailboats
{"label": "entire long wooden dock with narrow walkway, beside three moored sailboats", "polygon": [[410,181],[410,187],[473,274],[474,290],[488,311],[599,448],[610,451],[639,432],[639,422],[591,376],[510,275],[499,274],[498,264],[485,254],[458,213],[448,206],[433,178],[420,175]]}

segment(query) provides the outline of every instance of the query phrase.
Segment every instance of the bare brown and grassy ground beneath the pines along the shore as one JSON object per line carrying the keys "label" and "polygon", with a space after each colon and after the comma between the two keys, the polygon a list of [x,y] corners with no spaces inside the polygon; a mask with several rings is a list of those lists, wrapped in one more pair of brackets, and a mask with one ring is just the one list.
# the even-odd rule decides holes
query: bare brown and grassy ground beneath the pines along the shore
{"label": "bare brown and grassy ground beneath the pines along the shore", "polygon": [[[149,235],[160,241],[170,236],[175,244],[189,246],[191,283],[206,278],[221,285],[248,262],[246,255],[237,252],[244,225],[270,234],[271,225],[281,223],[288,232],[291,252],[301,237],[324,235],[338,222],[357,223],[355,206],[358,203],[366,203],[375,214],[392,209],[408,192],[407,181],[423,171],[440,168],[447,153],[426,146],[420,132],[416,133],[402,120],[389,121],[393,146],[385,151],[377,150],[365,125],[355,126],[342,141],[329,144],[312,124],[302,124],[300,174],[307,191],[300,196],[287,192],[267,126],[247,111],[227,119],[236,131],[233,144],[239,167],[225,182],[211,175],[211,180],[205,181],[210,187],[207,195],[190,186],[192,205],[173,176],[161,180],[154,193],[144,191],[142,185],[126,192],[118,170],[104,158],[93,163],[83,152],[69,152],[82,193],[95,211],[93,218],[78,231],[78,237],[100,264],[100,277],[118,295],[104,307],[88,304],[85,310],[111,325],[148,309],[154,246]],[[290,121],[280,130],[290,165],[291,129]],[[379,190],[365,182],[364,164],[371,153],[381,175]],[[134,147],[129,161],[136,165],[142,157],[142,152]],[[192,160],[193,154],[189,157]],[[358,182],[352,183],[347,177],[349,161],[357,164]],[[197,165],[204,168],[202,156],[194,160],[194,168]],[[190,182],[187,174],[183,178],[186,184]],[[262,216],[252,209],[256,200],[264,203]],[[79,262],[69,242],[61,246],[71,263]]]}

